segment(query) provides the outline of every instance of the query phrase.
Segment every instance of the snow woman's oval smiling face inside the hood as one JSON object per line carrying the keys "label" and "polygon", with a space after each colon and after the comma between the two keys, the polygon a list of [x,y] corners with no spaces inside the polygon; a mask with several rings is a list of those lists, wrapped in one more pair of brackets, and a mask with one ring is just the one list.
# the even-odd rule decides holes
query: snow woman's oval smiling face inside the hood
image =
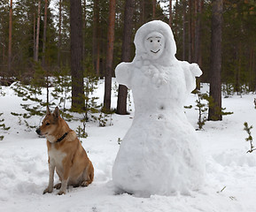
{"label": "snow woman's oval smiling face inside the hood", "polygon": [[151,59],[157,59],[161,56],[165,49],[165,37],[158,32],[152,32],[144,38],[144,48],[151,57]]}

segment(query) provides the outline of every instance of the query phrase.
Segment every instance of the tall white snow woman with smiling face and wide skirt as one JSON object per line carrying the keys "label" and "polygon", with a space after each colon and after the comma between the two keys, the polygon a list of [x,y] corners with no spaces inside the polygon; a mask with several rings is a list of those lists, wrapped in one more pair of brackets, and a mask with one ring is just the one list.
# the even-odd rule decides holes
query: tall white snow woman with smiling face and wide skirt
{"label": "tall white snow woman with smiling face and wide skirt", "polygon": [[112,168],[114,186],[139,196],[198,190],[205,163],[183,104],[202,72],[175,58],[174,35],[160,20],[140,27],[135,45],[132,63],[115,70],[117,81],[132,89],[135,117]]}

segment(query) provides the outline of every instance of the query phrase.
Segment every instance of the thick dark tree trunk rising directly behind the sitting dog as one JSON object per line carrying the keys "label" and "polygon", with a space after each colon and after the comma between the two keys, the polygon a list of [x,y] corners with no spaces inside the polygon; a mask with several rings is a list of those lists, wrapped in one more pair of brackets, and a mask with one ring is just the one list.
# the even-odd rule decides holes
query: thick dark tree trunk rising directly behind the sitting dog
{"label": "thick dark tree trunk rising directly behind the sitting dog", "polygon": [[81,112],[84,107],[82,68],[81,0],[70,0],[72,110]]}

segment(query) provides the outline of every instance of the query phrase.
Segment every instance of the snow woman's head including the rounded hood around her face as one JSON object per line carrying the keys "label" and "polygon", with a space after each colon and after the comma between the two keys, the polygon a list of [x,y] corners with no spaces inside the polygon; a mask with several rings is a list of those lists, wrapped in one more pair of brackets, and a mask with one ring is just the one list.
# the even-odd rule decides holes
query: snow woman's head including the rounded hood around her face
{"label": "snow woman's head including the rounded hood around her face", "polygon": [[140,27],[135,36],[136,60],[172,64],[176,54],[174,34],[165,22],[153,20]]}

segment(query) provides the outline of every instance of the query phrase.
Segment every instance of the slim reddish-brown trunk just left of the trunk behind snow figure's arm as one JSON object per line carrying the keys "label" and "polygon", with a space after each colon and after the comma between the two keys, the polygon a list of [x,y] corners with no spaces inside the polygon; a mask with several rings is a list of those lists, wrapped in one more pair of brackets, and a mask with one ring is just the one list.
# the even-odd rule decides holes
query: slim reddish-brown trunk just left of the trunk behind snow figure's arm
{"label": "slim reddish-brown trunk just left of the trunk behind snow figure's arm", "polygon": [[104,110],[111,110],[111,88],[112,88],[112,59],[114,42],[114,21],[115,21],[115,0],[110,0],[109,4],[109,23],[107,33],[107,52],[105,62],[105,95]]}

